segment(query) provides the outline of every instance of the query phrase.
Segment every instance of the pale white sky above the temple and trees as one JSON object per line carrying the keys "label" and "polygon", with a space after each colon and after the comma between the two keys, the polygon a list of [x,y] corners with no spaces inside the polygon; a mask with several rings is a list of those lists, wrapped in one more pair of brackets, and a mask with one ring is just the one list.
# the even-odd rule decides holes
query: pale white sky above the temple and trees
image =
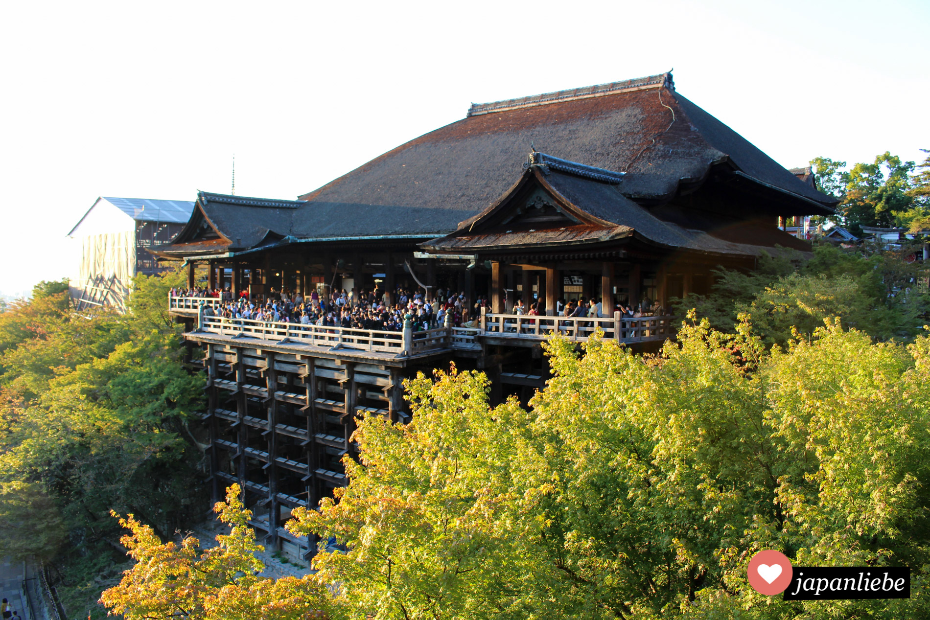
{"label": "pale white sky above the temple and trees", "polygon": [[788,167],[930,149],[930,2],[3,2],[0,292],[100,196],[296,198],[469,104],[674,68]]}

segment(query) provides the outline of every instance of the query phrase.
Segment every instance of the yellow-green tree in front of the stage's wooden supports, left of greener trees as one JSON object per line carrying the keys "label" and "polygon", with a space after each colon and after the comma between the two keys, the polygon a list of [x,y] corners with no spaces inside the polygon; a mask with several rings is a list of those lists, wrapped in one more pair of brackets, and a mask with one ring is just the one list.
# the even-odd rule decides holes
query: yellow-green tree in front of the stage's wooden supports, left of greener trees
{"label": "yellow-green tree in front of the stage's wooden supports, left of greener trees", "polygon": [[355,434],[362,462],[320,511],[295,510],[288,528],[336,536],[347,553],[320,554],[320,578],[339,583],[353,618],[568,617],[566,574],[539,545],[540,495],[530,420],[515,402],[491,408],[483,374],[420,374],[407,384],[413,420],[377,417]]}

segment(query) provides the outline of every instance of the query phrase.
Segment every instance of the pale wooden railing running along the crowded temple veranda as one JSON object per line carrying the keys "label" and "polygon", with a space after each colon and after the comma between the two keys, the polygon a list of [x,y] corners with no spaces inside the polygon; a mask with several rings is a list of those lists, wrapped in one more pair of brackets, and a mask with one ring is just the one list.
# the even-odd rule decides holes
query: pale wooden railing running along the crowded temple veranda
{"label": "pale wooden railing running along the crowded temple veranda", "polygon": [[[201,306],[203,304],[203,306]],[[444,327],[414,332],[355,329],[303,323],[280,323],[254,319],[209,316],[207,307],[219,309],[216,297],[170,297],[171,310],[190,310],[197,315],[201,331],[223,336],[251,336],[262,340],[288,341],[316,347],[344,348],[393,353],[397,357],[434,350],[480,350],[482,337],[544,340],[555,334],[585,341],[598,329],[604,338],[618,342],[662,341],[674,336],[672,316],[555,317],[523,314],[483,313],[477,327]]]}

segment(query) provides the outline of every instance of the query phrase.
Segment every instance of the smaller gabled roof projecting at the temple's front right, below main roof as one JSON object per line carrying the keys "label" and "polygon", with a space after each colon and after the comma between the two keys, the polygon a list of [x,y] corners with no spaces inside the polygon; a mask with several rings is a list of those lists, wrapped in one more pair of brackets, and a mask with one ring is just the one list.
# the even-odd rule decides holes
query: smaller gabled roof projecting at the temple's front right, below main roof
{"label": "smaller gabled roof projecting at the temple's front right, below main roof", "polygon": [[[547,245],[565,247],[637,241],[663,249],[688,250],[720,256],[758,256],[776,245],[809,250],[810,245],[774,226],[738,219],[715,218],[707,230],[684,228],[657,218],[622,192],[613,179],[595,178],[597,170],[568,172],[545,165],[549,156],[533,152],[527,169],[498,201],[469,218],[445,237],[422,246],[436,252],[507,252]],[[569,165],[565,165],[569,164]],[[602,171],[609,173],[609,171]],[[537,189],[546,197],[538,196]],[[547,199],[551,203],[547,203]],[[534,210],[549,206],[548,218],[533,217]],[[557,212],[557,213],[556,213]],[[526,216],[529,215],[529,218]]]}

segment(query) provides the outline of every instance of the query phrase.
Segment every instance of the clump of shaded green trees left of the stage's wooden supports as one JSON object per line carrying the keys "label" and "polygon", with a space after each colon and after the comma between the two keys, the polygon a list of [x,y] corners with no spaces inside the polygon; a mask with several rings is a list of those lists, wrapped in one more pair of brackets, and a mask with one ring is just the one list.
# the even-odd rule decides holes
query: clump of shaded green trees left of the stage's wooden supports
{"label": "clump of shaded green trees left of the stage's wooden supports", "polygon": [[202,379],[165,314],[172,278],[140,276],[126,315],[73,312],[46,283],[0,316],[0,545],[71,575],[66,608],[118,561],[111,508],[161,533],[200,513]]}

